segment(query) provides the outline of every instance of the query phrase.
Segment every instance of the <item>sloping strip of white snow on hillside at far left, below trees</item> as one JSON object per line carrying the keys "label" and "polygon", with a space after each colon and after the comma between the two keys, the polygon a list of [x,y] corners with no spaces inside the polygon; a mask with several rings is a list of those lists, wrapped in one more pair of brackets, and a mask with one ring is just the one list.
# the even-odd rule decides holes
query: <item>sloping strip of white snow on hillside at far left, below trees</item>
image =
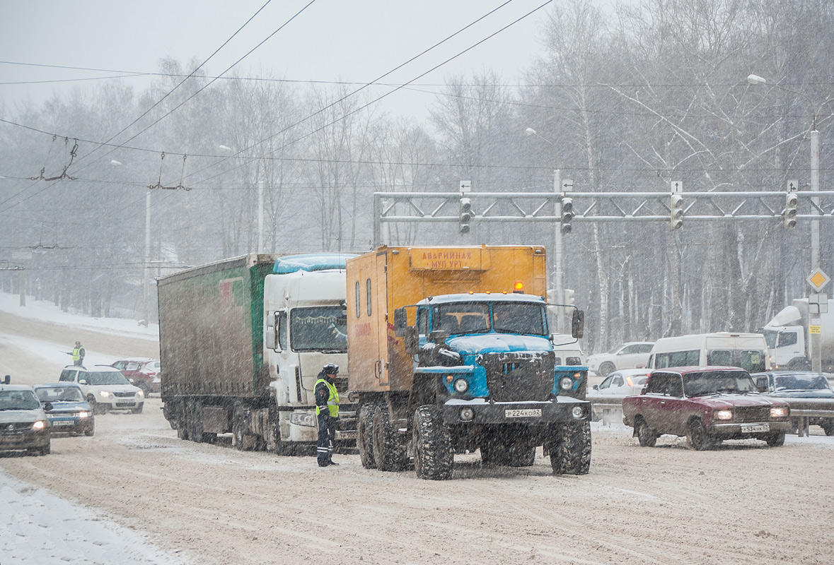
{"label": "sloping strip of white snow on hillside at far left, below trees", "polygon": [[128,335],[135,338],[159,339],[159,325],[149,324],[147,327],[138,325],[136,320],[124,318],[91,318],[90,316],[64,312],[52,302],[34,300],[26,297],[26,305],[20,305],[19,295],[0,292],[0,310],[21,318],[31,320],[48,320],[53,324],[68,325],[73,328],[96,330],[111,335]]}

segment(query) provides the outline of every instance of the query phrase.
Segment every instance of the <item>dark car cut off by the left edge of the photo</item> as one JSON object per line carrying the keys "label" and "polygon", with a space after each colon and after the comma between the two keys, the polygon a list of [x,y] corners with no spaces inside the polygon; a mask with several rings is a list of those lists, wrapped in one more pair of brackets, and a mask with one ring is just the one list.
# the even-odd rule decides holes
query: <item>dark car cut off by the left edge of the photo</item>
{"label": "dark car cut off by the left edge of the photo", "polygon": [[31,386],[0,384],[0,451],[49,453],[52,426]]}

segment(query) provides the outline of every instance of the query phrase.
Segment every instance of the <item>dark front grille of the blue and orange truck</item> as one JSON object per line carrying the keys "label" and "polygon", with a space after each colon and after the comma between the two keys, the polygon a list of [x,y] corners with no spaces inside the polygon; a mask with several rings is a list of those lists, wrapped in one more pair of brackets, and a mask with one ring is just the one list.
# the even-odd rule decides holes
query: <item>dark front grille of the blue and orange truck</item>
{"label": "dark front grille of the blue and orange truck", "polygon": [[553,391],[554,354],[485,354],[486,385],[495,402],[544,401]]}

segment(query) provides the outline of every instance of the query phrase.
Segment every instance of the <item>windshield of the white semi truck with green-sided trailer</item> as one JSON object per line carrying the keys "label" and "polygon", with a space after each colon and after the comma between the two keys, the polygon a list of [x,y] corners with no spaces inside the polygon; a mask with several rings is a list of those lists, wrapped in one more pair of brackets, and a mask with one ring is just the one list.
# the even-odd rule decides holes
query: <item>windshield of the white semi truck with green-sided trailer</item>
{"label": "windshield of the white semi truck with green-sided trailer", "polygon": [[344,353],[348,350],[348,319],[341,306],[295,308],[289,314],[294,351]]}

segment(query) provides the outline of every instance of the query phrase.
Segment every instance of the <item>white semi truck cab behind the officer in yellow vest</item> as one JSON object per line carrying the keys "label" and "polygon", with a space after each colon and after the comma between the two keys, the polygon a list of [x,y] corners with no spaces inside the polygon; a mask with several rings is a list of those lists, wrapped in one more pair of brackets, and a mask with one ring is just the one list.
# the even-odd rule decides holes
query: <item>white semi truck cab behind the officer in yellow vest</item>
{"label": "white semi truck cab behind the officer in yellow vest", "polygon": [[[353,256],[284,256],[264,280],[264,356],[284,442],[316,441],[314,387],[325,364],[339,365],[336,387],[347,390],[344,261]],[[355,437],[344,397],[337,440]]]}

